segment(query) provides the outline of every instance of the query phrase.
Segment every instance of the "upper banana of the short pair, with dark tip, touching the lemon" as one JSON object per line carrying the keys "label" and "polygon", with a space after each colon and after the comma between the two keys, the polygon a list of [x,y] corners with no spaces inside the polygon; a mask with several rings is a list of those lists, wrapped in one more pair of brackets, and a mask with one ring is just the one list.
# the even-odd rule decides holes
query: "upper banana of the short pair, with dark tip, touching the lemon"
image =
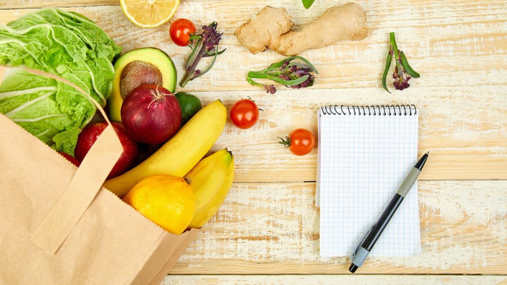
{"label": "upper banana of the short pair, with dark tip, touching the lemon", "polygon": [[223,149],[199,161],[185,175],[194,190],[195,212],[200,212],[219,191],[231,163],[232,154]]}

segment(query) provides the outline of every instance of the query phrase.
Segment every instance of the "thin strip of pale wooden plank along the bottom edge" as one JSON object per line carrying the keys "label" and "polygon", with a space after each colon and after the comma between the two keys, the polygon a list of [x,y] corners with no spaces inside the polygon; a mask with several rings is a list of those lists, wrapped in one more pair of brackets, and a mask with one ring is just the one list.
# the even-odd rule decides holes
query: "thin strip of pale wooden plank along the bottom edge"
{"label": "thin strip of pale wooden plank along the bottom edge", "polygon": [[506,276],[455,275],[169,275],[161,285],[384,284],[384,285],[505,285]]}

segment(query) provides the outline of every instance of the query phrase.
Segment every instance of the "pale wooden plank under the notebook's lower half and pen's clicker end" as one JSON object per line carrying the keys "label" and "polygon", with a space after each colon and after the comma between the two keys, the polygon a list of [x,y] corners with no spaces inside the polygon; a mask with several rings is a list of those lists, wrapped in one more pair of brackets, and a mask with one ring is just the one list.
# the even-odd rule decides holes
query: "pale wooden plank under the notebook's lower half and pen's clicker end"
{"label": "pale wooden plank under the notebook's lower half and pen's clicker end", "polygon": [[[505,181],[420,182],[422,253],[369,258],[365,274],[505,274]],[[319,257],[314,183],[234,184],[171,274],[343,274]],[[425,283],[425,282],[424,282]]]}

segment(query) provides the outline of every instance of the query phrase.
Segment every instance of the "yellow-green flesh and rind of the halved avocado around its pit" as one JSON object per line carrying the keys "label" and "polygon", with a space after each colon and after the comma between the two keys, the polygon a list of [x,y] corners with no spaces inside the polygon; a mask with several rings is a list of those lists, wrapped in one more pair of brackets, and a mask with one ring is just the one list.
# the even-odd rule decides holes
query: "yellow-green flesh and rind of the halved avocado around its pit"
{"label": "yellow-green flesh and rind of the halved avocado around its pit", "polygon": [[156,66],[162,74],[162,86],[174,93],[176,89],[176,67],[171,58],[157,48],[133,49],[124,53],[115,62],[115,78],[113,79],[113,91],[107,100],[109,115],[112,121],[121,123],[121,109],[123,98],[120,92],[120,80],[123,68],[132,61],[144,61]]}

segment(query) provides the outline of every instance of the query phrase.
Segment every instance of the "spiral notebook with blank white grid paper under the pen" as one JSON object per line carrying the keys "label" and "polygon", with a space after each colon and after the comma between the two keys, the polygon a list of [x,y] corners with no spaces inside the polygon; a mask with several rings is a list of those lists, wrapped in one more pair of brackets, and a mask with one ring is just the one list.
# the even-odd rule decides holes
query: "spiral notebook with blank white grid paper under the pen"
{"label": "spiral notebook with blank white grid paper under the pen", "polygon": [[[318,112],[320,255],[348,256],[417,162],[414,105],[323,106]],[[421,251],[417,183],[371,255]]]}

